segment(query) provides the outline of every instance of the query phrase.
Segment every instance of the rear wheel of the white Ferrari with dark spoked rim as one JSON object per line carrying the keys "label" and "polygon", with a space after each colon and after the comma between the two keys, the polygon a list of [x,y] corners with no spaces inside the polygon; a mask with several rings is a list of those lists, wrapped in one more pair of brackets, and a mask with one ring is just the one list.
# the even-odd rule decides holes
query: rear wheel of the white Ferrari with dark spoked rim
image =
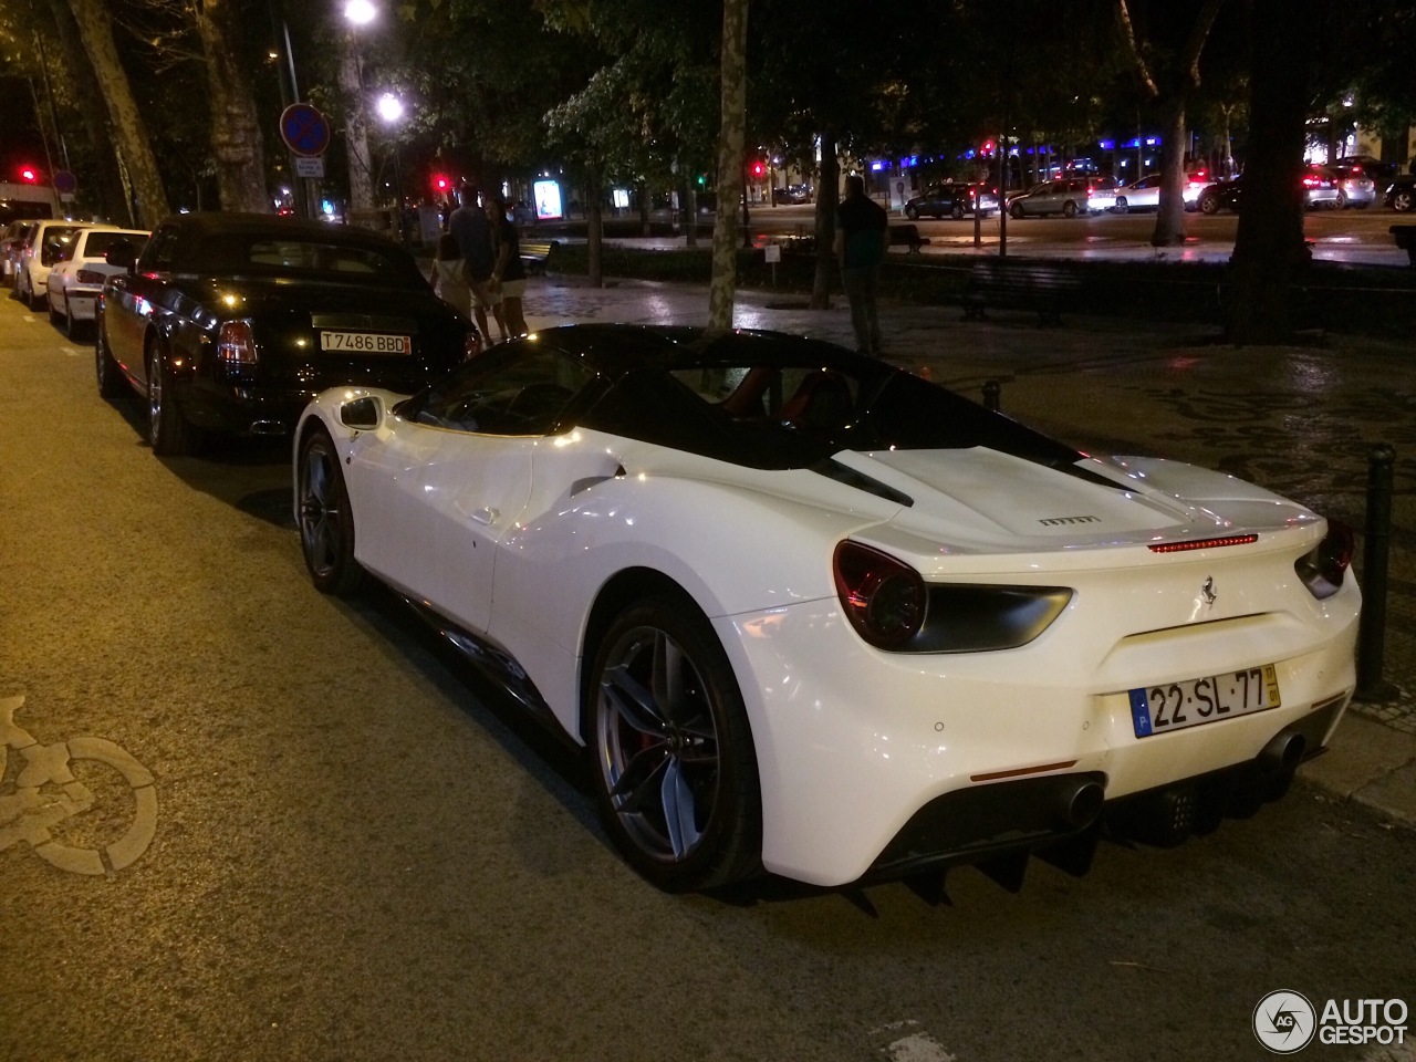
{"label": "rear wheel of the white Ferrari with dark spoked rim", "polygon": [[728,657],[702,613],[646,598],[610,624],[585,697],[590,784],[626,861],[667,892],[762,869],[752,731]]}

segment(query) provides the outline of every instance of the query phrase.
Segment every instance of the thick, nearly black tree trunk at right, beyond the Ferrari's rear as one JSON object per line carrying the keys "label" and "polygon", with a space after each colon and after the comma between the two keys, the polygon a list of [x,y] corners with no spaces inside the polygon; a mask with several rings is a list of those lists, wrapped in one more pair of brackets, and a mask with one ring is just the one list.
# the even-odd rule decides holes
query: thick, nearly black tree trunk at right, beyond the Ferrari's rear
{"label": "thick, nearly black tree trunk at right, beyond the Ferrari's rear", "polygon": [[1235,344],[1290,338],[1289,286],[1308,258],[1303,242],[1303,161],[1315,0],[1253,0],[1249,152],[1243,208],[1229,259],[1226,336]]}

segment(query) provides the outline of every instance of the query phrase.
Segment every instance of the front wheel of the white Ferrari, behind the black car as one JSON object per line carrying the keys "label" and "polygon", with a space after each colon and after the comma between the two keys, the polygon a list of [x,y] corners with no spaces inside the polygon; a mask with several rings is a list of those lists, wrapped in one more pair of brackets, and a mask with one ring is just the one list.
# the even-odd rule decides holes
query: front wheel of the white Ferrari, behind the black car
{"label": "front wheel of the white Ferrari, behind the black car", "polygon": [[300,552],[310,582],[320,593],[353,595],[364,582],[364,569],[354,559],[354,513],[340,455],[324,428],[313,428],[300,442],[295,490]]}

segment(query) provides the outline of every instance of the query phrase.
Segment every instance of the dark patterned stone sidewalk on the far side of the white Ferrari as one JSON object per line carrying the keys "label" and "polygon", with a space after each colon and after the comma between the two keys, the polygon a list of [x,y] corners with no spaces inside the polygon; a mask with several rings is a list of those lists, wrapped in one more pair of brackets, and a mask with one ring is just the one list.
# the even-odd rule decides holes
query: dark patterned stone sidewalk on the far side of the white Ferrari
{"label": "dark patterned stone sidewalk on the far side of the white Ferrari", "polygon": [[[585,321],[697,324],[697,285],[534,278],[531,329]],[[1354,702],[1332,749],[1301,777],[1416,824],[1416,385],[1403,344],[1306,337],[1301,347],[1233,348],[1194,324],[998,313],[963,321],[957,306],[881,303],[886,360],[978,396],[1001,387],[1001,408],[1082,450],[1154,453],[1252,480],[1317,511],[1365,525],[1371,450],[1396,447],[1383,704]],[[854,348],[845,299],[811,310],[803,296],[738,290],[733,324],[831,340]],[[1361,534],[1358,576],[1361,578]],[[1371,598],[1368,607],[1372,607]]]}

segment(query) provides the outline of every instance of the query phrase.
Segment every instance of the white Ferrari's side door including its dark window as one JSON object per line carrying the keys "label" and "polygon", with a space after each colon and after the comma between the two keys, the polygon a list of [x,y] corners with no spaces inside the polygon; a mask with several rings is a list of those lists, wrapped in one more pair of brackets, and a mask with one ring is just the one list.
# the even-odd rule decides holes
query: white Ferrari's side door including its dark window
{"label": "white Ferrari's side door including its dark window", "polygon": [[486,632],[498,547],[525,510],[538,452],[554,449],[548,432],[586,382],[561,351],[503,344],[355,440],[347,481],[358,561]]}

